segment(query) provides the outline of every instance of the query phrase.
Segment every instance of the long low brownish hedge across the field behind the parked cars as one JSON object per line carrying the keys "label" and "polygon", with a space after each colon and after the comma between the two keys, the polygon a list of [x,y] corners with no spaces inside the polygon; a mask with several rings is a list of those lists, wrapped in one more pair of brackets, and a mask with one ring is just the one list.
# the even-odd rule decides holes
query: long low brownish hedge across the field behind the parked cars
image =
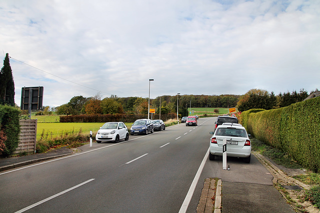
{"label": "long low brownish hedge across the field behind the parked cars", "polygon": [[[68,115],[60,116],[61,123],[104,123],[122,121],[132,123],[137,119],[147,118],[148,115],[137,114],[105,114],[105,115]],[[151,119],[151,116],[149,116]],[[152,119],[159,119],[159,114],[153,114]],[[176,113],[161,114],[161,120],[176,119]]]}

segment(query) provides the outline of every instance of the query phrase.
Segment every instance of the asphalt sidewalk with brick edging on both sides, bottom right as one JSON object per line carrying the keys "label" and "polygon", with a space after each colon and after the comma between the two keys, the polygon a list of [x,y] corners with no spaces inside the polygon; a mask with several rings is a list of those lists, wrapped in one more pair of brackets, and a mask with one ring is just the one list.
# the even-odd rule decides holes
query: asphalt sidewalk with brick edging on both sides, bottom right
{"label": "asphalt sidewalk with brick edging on both sides, bottom right", "polygon": [[262,155],[254,156],[273,176],[273,186],[223,182],[205,179],[197,213],[319,213],[310,202],[303,202],[305,190],[310,186],[303,184],[278,169]]}

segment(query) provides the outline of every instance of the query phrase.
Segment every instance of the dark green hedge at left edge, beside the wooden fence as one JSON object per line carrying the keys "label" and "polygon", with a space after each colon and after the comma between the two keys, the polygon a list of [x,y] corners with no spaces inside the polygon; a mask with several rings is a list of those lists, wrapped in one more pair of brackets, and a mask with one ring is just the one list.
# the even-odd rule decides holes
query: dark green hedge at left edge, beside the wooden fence
{"label": "dark green hedge at left edge, beside the wooden fence", "polygon": [[1,153],[2,156],[11,155],[18,147],[20,133],[19,115],[18,109],[0,105],[0,131],[6,137],[4,141],[5,148]]}

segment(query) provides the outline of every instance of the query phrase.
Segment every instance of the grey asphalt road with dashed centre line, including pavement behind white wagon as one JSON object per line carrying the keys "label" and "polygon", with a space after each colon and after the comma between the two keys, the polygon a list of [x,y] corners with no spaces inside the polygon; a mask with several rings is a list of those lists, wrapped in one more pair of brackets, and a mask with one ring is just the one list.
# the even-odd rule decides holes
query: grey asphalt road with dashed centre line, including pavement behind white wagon
{"label": "grey asphalt road with dashed centre line, including pavement behind white wagon", "polygon": [[0,212],[177,213],[203,159],[186,212],[195,212],[205,178],[271,186],[272,176],[255,158],[250,164],[228,159],[230,171],[222,170],[221,159],[206,160],[215,119],[85,145],[77,155],[0,173]]}

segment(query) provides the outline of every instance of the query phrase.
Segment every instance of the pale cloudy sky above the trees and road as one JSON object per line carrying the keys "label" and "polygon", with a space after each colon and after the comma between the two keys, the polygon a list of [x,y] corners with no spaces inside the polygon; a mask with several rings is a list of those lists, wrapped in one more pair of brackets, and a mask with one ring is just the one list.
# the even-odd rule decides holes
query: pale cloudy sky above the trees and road
{"label": "pale cloudy sky above the trees and road", "polygon": [[148,97],[148,79],[150,98],[310,92],[320,1],[0,0],[0,49],[17,105],[24,86],[43,86],[44,106]]}

